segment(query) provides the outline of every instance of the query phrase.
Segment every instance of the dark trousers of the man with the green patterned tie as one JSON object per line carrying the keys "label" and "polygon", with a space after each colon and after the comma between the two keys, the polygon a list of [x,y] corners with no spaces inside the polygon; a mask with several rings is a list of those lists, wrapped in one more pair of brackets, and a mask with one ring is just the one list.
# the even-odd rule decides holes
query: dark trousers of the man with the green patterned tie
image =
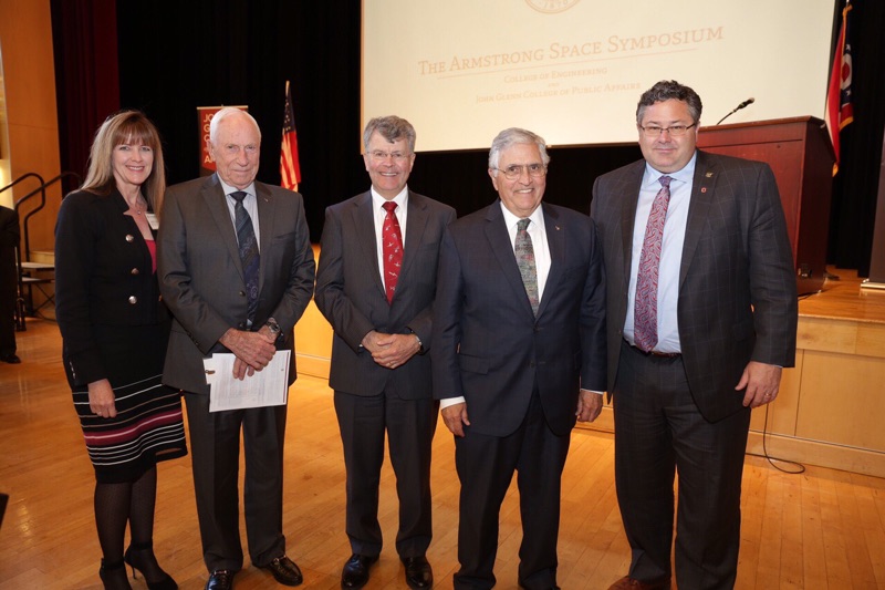
{"label": "dark trousers of the man with the green patterned tie", "polygon": [[494,586],[501,503],[514,470],[522,518],[519,584],[528,590],[556,586],[560,490],[570,442],[548,426],[537,390],[512,434],[489,436],[465,426],[465,436],[455,438],[461,482],[456,589]]}

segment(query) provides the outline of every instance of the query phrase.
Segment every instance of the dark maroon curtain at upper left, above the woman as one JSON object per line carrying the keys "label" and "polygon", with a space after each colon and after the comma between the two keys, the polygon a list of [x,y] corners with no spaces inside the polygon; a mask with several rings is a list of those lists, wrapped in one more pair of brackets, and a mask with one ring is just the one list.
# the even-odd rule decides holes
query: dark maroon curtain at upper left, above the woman
{"label": "dark maroon curtain at upper left, above the woman", "polygon": [[[84,178],[95,130],[119,110],[116,0],[51,0],[50,6],[60,163],[63,172]],[[65,178],[63,193],[75,185]]]}

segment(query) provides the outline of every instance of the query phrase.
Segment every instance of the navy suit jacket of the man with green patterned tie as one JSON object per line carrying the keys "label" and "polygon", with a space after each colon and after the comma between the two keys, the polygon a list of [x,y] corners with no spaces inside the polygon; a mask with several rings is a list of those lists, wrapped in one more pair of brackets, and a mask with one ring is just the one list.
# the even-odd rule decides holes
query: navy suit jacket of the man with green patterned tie
{"label": "navy suit jacket of the man with green patterned tie", "polygon": [[500,201],[451,224],[442,240],[431,350],[434,395],[464,395],[470,429],[507,436],[537,387],[559,435],[575,424],[581,387],[605,387],[605,280],[587,216],[542,204],[550,275],[538,317]]}

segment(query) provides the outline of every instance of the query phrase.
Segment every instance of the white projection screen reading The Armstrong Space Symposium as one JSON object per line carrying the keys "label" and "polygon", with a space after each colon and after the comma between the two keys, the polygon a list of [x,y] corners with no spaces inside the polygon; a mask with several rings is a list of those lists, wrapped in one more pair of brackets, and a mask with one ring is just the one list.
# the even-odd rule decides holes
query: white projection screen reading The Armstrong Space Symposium
{"label": "white projection screen reading The Armstrong Space Symposium", "polygon": [[[636,141],[659,80],[701,123],[823,117],[833,0],[363,0],[362,124],[395,114],[417,151],[487,148],[525,127],[551,145]],[[362,131],[362,130],[361,130]]]}

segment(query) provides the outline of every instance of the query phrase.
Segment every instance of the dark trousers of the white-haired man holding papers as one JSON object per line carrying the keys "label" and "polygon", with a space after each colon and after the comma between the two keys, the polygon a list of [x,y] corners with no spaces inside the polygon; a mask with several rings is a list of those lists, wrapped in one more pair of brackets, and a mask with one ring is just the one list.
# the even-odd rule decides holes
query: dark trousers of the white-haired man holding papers
{"label": "dark trousers of the white-haired man holding papers", "polygon": [[[248,379],[248,377],[247,377]],[[246,457],[243,509],[252,565],[285,553],[282,534],[287,406],[209,412],[209,396],[185,392],[202,557],[209,571],[242,569],[240,429]]]}

